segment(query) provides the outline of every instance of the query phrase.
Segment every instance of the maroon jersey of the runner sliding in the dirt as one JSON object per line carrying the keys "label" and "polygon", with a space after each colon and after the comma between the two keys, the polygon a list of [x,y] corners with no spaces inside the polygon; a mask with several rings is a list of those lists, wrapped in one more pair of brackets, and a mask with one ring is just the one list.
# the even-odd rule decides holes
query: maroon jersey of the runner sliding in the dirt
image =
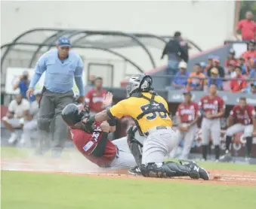
{"label": "maroon jersey of the runner sliding in the dirt", "polygon": [[108,167],[116,157],[117,148],[115,144],[107,140],[106,150],[103,156],[94,157],[92,155],[92,151],[102,137],[100,124],[101,123],[94,123],[95,129],[91,134],[86,133],[82,129],[71,129],[71,137],[76,148],[83,154],[83,156],[100,167]]}

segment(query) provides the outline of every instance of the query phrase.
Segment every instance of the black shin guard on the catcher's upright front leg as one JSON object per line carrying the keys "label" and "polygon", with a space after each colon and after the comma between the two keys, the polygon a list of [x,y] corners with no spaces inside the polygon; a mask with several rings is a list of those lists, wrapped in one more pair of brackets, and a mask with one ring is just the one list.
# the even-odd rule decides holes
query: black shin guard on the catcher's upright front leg
{"label": "black shin guard on the catcher's upright front leg", "polygon": [[137,141],[136,138],[134,138],[134,134],[137,131],[137,128],[131,127],[128,130],[128,137],[127,137],[127,143],[128,147],[131,150],[131,154],[134,156],[135,162],[137,165],[141,165],[141,159],[142,159],[142,147],[143,145],[140,144],[139,141]]}

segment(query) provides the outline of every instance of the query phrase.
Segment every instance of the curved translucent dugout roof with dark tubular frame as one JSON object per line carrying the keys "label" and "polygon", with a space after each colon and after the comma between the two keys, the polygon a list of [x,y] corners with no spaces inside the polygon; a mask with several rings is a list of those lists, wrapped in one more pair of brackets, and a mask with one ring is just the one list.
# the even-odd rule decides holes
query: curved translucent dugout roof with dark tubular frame
{"label": "curved translucent dugout roof with dark tubular frame", "polygon": [[[160,50],[163,49],[167,41],[172,38],[171,36],[159,36],[153,34],[142,33],[125,33],[125,32],[110,32],[110,31],[92,31],[83,29],[31,29],[19,35],[10,44],[5,44],[1,47],[1,69],[5,58],[11,50],[19,50],[19,47],[26,46],[27,50],[32,51],[31,60],[28,68],[31,68],[38,54],[50,50],[54,47],[57,39],[61,36],[66,36],[70,39],[73,48],[84,48],[93,50],[103,50],[113,53],[116,56],[125,59],[131,65],[134,65],[140,72],[143,70],[137,63],[134,63],[128,57],[117,53],[114,49],[128,48],[128,47],[141,47],[152,64],[152,68],[156,68],[153,55],[150,53],[148,47],[155,47]],[[192,41],[188,41],[197,50],[202,51]]]}

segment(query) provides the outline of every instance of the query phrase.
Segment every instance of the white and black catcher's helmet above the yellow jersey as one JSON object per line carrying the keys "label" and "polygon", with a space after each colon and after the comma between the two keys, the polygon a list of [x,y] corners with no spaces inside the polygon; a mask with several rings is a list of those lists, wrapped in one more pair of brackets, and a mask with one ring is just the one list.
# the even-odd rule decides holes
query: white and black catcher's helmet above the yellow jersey
{"label": "white and black catcher's helmet above the yellow jersey", "polygon": [[127,83],[127,97],[130,97],[134,92],[149,92],[152,88],[152,77],[146,74],[132,75]]}

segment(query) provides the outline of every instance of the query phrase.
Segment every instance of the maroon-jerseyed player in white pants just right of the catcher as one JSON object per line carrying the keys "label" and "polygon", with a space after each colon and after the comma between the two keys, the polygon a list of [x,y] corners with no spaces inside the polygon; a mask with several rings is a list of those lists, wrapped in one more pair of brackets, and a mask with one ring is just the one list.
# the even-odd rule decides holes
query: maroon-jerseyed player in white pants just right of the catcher
{"label": "maroon-jerseyed player in white pants just right of the catcher", "polygon": [[190,153],[193,139],[196,137],[197,120],[200,115],[199,106],[191,101],[191,92],[184,92],[184,102],[177,108],[176,116],[178,120],[178,139],[184,140],[184,150],[180,159],[187,159]]}

